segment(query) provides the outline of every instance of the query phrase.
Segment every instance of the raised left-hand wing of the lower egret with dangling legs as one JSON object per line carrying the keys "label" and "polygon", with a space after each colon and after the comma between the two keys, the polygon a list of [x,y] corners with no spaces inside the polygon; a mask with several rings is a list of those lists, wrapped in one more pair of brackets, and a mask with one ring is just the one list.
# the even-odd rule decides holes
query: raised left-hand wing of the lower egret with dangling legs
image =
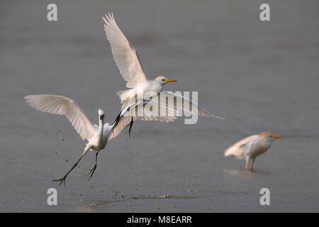
{"label": "raised left-hand wing of the lower egret with dangling legs", "polygon": [[89,118],[72,99],[52,94],[31,94],[24,99],[38,111],[66,116],[82,140],[89,140],[94,135],[94,127]]}

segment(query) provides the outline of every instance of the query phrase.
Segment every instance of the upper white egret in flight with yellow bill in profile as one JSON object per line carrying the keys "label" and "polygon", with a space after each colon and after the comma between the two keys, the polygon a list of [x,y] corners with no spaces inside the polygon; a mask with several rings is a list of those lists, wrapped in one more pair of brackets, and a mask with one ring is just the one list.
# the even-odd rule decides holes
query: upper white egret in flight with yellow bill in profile
{"label": "upper white egret in flight with yellow bill in profile", "polygon": [[[133,45],[128,41],[125,35],[122,33],[116,21],[114,19],[113,13],[108,13],[103,17],[104,21],[104,31],[106,33],[106,38],[108,39],[111,45],[111,51],[113,54],[113,58],[120,70],[120,73],[126,81],[126,87],[129,89],[117,92],[118,96],[120,96],[121,104],[123,105],[123,109],[127,106],[125,104],[128,101],[135,99],[138,97],[138,100],[144,101],[145,99],[152,99],[155,95],[164,94],[170,98],[178,98],[183,105],[179,106],[192,106],[192,108],[197,109],[196,114],[199,116],[206,117],[217,117],[208,113],[208,111],[201,109],[197,104],[193,103],[189,99],[179,94],[174,94],[173,92],[165,92],[162,89],[164,84],[169,82],[177,82],[175,79],[167,79],[166,77],[159,76],[155,79],[147,79],[145,73],[142,70],[142,64],[140,63],[140,59],[138,57],[138,53],[135,51]],[[147,96],[147,94],[151,94],[151,96]],[[142,100],[141,100],[142,99]],[[172,108],[177,109],[176,106],[171,106]],[[179,109],[181,111],[181,109]]]}

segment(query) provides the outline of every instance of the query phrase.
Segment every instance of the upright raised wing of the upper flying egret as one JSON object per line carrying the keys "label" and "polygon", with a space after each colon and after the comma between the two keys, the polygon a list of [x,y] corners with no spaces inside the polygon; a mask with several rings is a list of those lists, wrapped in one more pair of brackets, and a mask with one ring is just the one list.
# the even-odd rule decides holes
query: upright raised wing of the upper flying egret
{"label": "upright raised wing of the upper flying egret", "polygon": [[140,83],[147,82],[138,54],[120,28],[118,28],[113,13],[105,15],[103,21],[106,38],[110,42],[118,70],[120,70],[123,79],[127,82],[126,87],[133,88]]}

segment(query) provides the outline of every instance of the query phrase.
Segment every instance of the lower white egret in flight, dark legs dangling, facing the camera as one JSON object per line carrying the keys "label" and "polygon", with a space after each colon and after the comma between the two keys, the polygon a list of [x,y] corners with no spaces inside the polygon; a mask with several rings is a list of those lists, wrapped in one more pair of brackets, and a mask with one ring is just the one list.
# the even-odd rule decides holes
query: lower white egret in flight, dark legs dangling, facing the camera
{"label": "lower white egret in flight, dark legs dangling, facing the camera", "polygon": [[[130,111],[133,111],[134,107],[137,106],[137,104],[131,104],[129,106],[130,108],[121,111],[117,118],[118,121],[114,121],[112,125],[104,123],[104,112],[99,109],[99,126],[97,126],[96,124],[92,124],[91,121],[89,121],[89,118],[86,117],[82,109],[75,101],[65,96],[52,94],[32,94],[25,96],[24,99],[26,99],[26,102],[28,102],[31,107],[35,108],[38,111],[66,116],[67,119],[72,123],[72,126],[74,126],[77,133],[81,136],[82,140],[88,141],[81,157],[77,162],[75,162],[69,172],[71,172],[74,167],[77,166],[79,161],[88,150],[95,151],[94,166],[91,167],[91,170],[89,170],[89,173],[87,174],[89,175],[89,179],[92,177],[94,171],[96,170],[98,154],[100,150],[103,150],[105,148],[108,140],[111,140],[112,138],[115,138],[117,135],[119,135],[123,128],[125,128],[125,126],[128,126],[129,123],[131,123],[131,128],[133,124],[133,121],[130,121],[131,119],[145,121],[145,117],[133,117],[132,114],[130,114]],[[157,105],[157,108],[159,110],[168,109],[169,113],[175,111],[174,109],[169,109],[166,106],[159,104]],[[152,121],[169,122],[174,121],[176,119],[176,116],[161,117],[151,115],[147,118],[151,119]],[[65,185],[65,179],[67,178],[67,175],[69,175],[69,172],[67,172],[67,174],[61,179],[56,179],[54,181],[60,182],[59,186],[62,184],[62,182]]]}

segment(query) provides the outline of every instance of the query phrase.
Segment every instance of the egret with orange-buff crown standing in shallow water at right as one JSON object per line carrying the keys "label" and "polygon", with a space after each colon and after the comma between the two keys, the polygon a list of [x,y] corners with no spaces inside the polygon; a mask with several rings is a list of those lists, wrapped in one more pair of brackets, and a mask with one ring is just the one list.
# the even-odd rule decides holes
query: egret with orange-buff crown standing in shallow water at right
{"label": "egret with orange-buff crown standing in shallow water at right", "polygon": [[224,151],[224,155],[234,155],[238,159],[245,158],[245,168],[252,171],[255,158],[265,153],[272,145],[272,141],[279,138],[282,138],[282,136],[272,135],[272,133],[270,132],[250,135],[249,137],[240,140],[239,142],[232,145],[230,148],[226,149]]}

